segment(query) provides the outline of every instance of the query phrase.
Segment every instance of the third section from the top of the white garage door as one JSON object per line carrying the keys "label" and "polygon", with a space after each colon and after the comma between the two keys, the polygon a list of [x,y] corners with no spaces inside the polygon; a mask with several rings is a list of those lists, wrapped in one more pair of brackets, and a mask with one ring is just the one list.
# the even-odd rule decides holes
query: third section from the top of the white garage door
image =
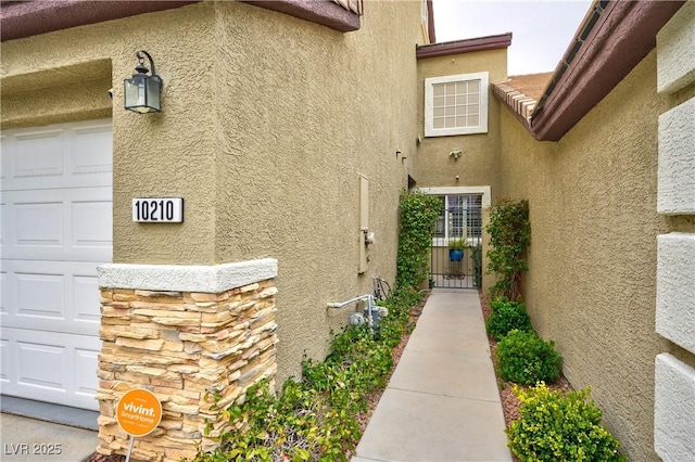
{"label": "third section from the top of the white garage door", "polygon": [[99,335],[97,267],[102,262],[5,260],[3,325]]}

